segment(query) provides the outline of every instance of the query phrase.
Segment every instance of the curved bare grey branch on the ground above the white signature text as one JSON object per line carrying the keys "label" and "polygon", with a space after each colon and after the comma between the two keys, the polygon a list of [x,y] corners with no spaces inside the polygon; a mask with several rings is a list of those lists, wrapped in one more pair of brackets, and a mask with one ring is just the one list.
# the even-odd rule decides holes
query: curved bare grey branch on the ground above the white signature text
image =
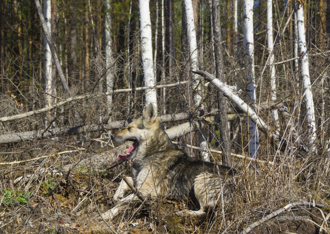
{"label": "curved bare grey branch on the ground above the white signature text", "polygon": [[312,206],[312,207],[318,207],[318,208],[324,208],[325,207],[325,205],[317,204],[317,203],[313,204],[313,203],[310,203],[308,201],[290,203],[290,204],[287,204],[286,206],[284,206],[283,208],[272,212],[271,214],[267,215],[266,217],[263,217],[262,219],[260,219],[258,221],[255,221],[251,225],[248,225],[248,227],[245,228],[242,231],[242,234],[248,234],[248,233],[250,233],[250,231],[252,231],[252,229],[259,226],[261,223],[264,223],[264,222],[268,221],[271,218],[275,218],[278,215],[280,215],[281,213],[286,212],[286,211],[290,210],[291,208],[295,208],[295,207],[298,207],[298,206],[310,206],[310,207]]}

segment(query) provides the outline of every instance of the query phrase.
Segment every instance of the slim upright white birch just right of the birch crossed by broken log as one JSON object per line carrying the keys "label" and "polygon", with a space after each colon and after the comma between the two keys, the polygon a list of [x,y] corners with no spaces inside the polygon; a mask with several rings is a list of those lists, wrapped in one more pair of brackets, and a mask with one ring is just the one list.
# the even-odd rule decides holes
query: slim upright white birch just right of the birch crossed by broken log
{"label": "slim upright white birch just right of the birch crossed by broken log", "polygon": [[[271,96],[272,101],[276,101],[276,80],[275,80],[275,66],[274,66],[274,39],[273,39],[273,0],[267,0],[267,47],[270,53],[270,83],[271,83]],[[274,122],[279,118],[277,109],[273,110]]]}

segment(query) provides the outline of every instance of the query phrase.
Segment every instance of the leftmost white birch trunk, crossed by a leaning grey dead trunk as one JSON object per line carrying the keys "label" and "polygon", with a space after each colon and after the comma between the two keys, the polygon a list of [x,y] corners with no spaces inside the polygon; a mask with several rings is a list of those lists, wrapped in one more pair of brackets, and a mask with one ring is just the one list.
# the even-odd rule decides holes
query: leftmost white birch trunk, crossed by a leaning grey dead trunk
{"label": "leftmost white birch trunk, crossed by a leaning grey dead trunk", "polygon": [[[44,1],[44,18],[46,21],[48,34],[51,34],[51,1],[45,0]],[[52,67],[51,67],[51,52],[49,48],[49,44],[47,42],[46,35],[44,36],[44,71],[45,71],[45,95],[46,95],[46,107],[51,106],[52,102]]]}

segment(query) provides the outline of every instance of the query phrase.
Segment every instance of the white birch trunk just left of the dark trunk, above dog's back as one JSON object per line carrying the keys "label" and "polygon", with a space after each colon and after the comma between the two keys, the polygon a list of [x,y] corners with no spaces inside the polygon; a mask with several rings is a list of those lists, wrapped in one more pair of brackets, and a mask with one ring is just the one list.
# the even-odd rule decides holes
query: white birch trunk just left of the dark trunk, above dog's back
{"label": "white birch trunk just left of the dark trunk, above dog's back", "polygon": [[[189,56],[190,56],[190,71],[198,70],[198,50],[197,50],[197,38],[196,38],[196,30],[195,30],[195,22],[194,22],[194,9],[192,7],[191,0],[184,0],[185,9],[186,9],[186,19],[187,19],[187,31],[188,31],[188,44],[189,44]],[[188,71],[189,73],[189,71]],[[191,79],[194,90],[196,90],[195,95],[193,96],[194,104],[196,107],[203,108],[202,105],[202,94],[201,87],[197,85],[198,79],[196,74],[191,73]],[[200,142],[199,146],[203,150],[200,151],[201,159],[204,161],[210,161],[209,153],[205,150],[207,146],[207,136],[206,132],[202,131],[201,136],[199,137]]]}

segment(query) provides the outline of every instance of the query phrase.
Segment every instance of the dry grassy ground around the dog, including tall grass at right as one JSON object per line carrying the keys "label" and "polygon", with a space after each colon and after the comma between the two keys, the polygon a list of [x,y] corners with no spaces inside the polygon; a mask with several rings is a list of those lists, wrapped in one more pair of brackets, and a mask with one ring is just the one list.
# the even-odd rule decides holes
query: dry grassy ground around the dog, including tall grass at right
{"label": "dry grassy ground around the dog, including tall grass at right", "polygon": [[[327,205],[322,211],[324,218],[320,213],[315,216],[318,219],[312,220],[316,224],[309,221],[309,225],[317,230],[322,226],[322,233],[329,231],[329,160],[324,160],[329,158],[327,153],[323,158],[313,153],[304,157],[277,153],[269,156],[269,163],[259,164],[258,170],[250,161],[236,160],[240,174],[225,206],[224,219],[220,211],[207,219],[182,218],[175,214],[185,209],[182,201],[159,198],[151,208],[133,206],[104,223],[99,212],[113,206],[112,196],[120,176],[129,175],[129,165],[106,170],[117,153],[110,146],[103,154],[88,150],[58,154],[65,145],[49,144],[49,149],[43,145],[33,153],[26,150],[25,155],[30,153],[30,157],[47,157],[2,167],[1,233],[112,233],[108,225],[117,233],[239,233],[253,221],[300,200]],[[118,149],[125,150],[125,146]],[[14,155],[17,159],[23,156]],[[100,155],[107,160],[101,161]],[[69,174],[67,164],[73,167]]]}

